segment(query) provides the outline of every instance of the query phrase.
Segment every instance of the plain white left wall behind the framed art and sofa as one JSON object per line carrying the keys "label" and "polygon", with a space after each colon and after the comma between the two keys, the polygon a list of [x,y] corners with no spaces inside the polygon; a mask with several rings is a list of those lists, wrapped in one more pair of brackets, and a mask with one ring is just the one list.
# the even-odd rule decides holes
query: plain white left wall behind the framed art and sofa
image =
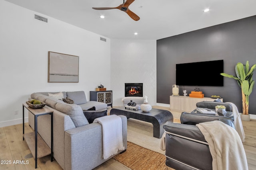
{"label": "plain white left wall behind the framed art and sofa", "polygon": [[[110,39],[42,14],[48,23],[35,20],[34,14],[0,0],[0,127],[22,123],[22,103],[33,92],[83,90],[89,100],[100,83],[110,89]],[[79,56],[78,83],[47,82],[48,51]]]}

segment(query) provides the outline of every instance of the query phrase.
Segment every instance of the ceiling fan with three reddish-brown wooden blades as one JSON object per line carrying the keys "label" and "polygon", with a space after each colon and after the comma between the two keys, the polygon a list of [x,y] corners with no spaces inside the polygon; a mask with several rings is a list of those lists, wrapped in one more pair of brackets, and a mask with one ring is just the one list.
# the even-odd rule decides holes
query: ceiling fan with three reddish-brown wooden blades
{"label": "ceiling fan with three reddish-brown wooden blades", "polygon": [[128,16],[130,16],[130,18],[132,18],[135,21],[140,20],[140,17],[137,16],[136,14],[134,14],[131,10],[129,10],[128,6],[130,4],[132,4],[132,2],[134,2],[134,0],[126,0],[126,2],[124,2],[123,4],[121,4],[120,6],[117,7],[113,7],[113,8],[92,8],[94,10],[112,10],[112,9],[118,9],[121,10],[123,12],[126,12],[126,14],[128,14]]}

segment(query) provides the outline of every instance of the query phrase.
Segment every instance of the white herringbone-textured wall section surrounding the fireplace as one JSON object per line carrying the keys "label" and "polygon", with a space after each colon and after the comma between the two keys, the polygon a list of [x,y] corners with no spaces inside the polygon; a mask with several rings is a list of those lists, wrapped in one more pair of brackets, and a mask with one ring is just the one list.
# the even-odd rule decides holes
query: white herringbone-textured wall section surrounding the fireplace
{"label": "white herringbone-textured wall section surrounding the fireplace", "polygon": [[143,83],[143,95],[156,105],[156,40],[111,40],[113,106],[123,106],[124,83]]}

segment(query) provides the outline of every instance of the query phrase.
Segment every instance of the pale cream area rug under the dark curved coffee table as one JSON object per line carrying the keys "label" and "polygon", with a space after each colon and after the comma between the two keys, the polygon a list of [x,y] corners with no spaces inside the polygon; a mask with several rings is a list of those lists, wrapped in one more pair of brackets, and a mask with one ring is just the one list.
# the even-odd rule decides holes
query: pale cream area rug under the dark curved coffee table
{"label": "pale cream area rug under the dark curved coffee table", "polygon": [[[174,118],[174,122],[180,123],[180,120]],[[152,123],[132,118],[127,119],[127,141],[154,152],[165,154],[165,151],[160,149],[161,139],[153,137]]]}

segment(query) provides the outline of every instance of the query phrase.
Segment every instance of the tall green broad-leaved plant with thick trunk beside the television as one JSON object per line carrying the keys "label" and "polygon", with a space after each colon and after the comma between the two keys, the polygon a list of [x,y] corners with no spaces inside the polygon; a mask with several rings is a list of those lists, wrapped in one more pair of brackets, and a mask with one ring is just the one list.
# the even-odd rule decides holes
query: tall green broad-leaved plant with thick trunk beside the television
{"label": "tall green broad-leaved plant with thick trunk beside the television", "polygon": [[[221,73],[222,76],[228,78],[234,78],[237,80],[238,85],[242,89],[242,106],[243,106],[243,115],[248,115],[249,109],[249,96],[252,93],[252,88],[254,86],[254,80],[252,80],[252,74],[256,68],[256,64],[254,64],[251,68],[249,68],[249,61],[246,61],[246,64],[237,63],[235,67],[236,76]],[[248,119],[248,118],[247,118]],[[250,120],[250,115],[249,115]]]}

